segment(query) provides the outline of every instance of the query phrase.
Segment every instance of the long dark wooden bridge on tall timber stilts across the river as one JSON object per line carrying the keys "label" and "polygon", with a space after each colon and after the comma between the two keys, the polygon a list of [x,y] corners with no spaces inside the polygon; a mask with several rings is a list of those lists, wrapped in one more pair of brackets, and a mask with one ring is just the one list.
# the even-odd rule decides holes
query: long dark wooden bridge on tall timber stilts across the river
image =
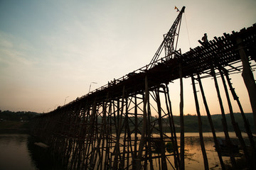
{"label": "long dark wooden bridge on tall timber stilts across the river", "polygon": [[[255,168],[255,161],[252,161],[255,160],[255,141],[229,74],[242,72],[256,125],[256,85],[252,75],[255,65],[250,65],[250,60],[256,59],[256,25],[240,32],[224,33],[222,37],[209,42],[199,41],[200,47],[184,54],[171,50],[159,59],[159,52],[166,47],[167,36],[153,62],[55,111],[38,116],[32,121],[31,134],[50,145],[52,152],[58,155],[58,159],[68,169],[185,169],[183,79],[191,79],[204,168],[209,169],[209,166],[195,81],[200,86],[220,166],[225,169],[201,81],[203,78],[213,78],[232,166],[235,169],[237,162],[228,134],[223,100],[228,101],[234,128],[232,131],[235,131],[240,141],[247,168]],[[216,75],[221,77],[225,99],[220,96]],[[169,82],[176,79],[180,79],[181,86],[179,142],[168,86]],[[228,89],[240,108],[250,147],[245,146],[238,123],[235,122]],[[168,143],[172,145],[170,153],[166,152]]]}

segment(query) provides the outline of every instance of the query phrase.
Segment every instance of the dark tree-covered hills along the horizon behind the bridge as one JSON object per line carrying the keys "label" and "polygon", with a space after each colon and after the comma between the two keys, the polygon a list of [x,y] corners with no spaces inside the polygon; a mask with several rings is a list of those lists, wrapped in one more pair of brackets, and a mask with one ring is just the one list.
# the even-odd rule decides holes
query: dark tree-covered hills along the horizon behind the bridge
{"label": "dark tree-covered hills along the horizon behind the bridge", "polygon": [[[18,111],[18,112],[13,112],[13,111],[1,111],[0,110],[0,119],[1,120],[14,120],[14,121],[29,121],[35,116],[40,115],[40,113],[36,112],[26,112],[26,111]],[[245,132],[245,123],[242,120],[242,115],[241,113],[234,113],[235,116],[235,121],[238,123],[240,130],[242,132]],[[247,118],[249,124],[250,124],[250,129],[252,132],[255,132],[255,125],[253,123],[253,115],[252,113],[245,113],[245,117]],[[222,115],[211,115],[211,118],[213,120],[213,125],[215,128],[216,132],[223,132],[223,125],[222,125]],[[225,118],[228,123],[228,131],[233,132],[233,125],[231,123],[230,119],[230,114],[225,114]],[[152,117],[151,120],[155,120],[156,117]],[[134,118],[129,118],[129,126],[132,128],[134,126]],[[138,117],[139,122],[142,120],[142,116]],[[210,124],[208,121],[207,115],[201,115],[201,120],[202,120],[202,125],[203,125],[203,132],[211,132],[210,129]],[[101,118],[99,117],[97,119],[98,123],[101,123]],[[133,122],[133,123],[132,123]],[[167,118],[162,119],[163,122],[163,130],[164,132],[170,132],[169,128],[169,120]],[[180,131],[180,117],[178,115],[174,115],[174,124],[176,126],[176,132]],[[198,117],[197,115],[191,115],[187,114],[184,115],[184,129],[185,132],[198,132]]]}

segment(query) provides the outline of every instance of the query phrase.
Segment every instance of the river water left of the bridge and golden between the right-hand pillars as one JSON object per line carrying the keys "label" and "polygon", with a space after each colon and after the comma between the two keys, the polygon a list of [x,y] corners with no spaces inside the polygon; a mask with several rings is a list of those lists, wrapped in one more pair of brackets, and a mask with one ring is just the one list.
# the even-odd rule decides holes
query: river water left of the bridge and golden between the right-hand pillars
{"label": "river water left of the bridge and golden between the right-hand pillars", "polygon": [[[224,137],[223,132],[217,135]],[[209,168],[220,169],[211,133],[206,132],[203,136]],[[235,133],[231,132],[230,137],[235,137]],[[0,170],[63,169],[46,148],[35,145],[35,142],[38,141],[26,134],[0,134]],[[227,164],[230,162],[229,157],[223,157],[223,160]],[[185,133],[185,164],[186,169],[203,169],[198,133]]]}

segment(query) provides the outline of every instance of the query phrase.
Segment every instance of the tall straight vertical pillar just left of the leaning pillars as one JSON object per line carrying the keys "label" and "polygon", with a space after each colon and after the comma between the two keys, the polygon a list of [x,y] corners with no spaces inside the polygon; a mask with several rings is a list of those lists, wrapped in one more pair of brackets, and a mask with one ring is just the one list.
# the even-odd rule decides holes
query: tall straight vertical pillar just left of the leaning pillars
{"label": "tall straight vertical pillar just left of the leaning pillars", "polygon": [[183,81],[182,81],[182,67],[181,63],[179,64],[179,77],[180,77],[180,86],[181,86],[181,101],[180,101],[180,123],[181,123],[181,164],[180,169],[185,169],[184,154],[185,154],[185,142],[184,142],[184,117],[183,117]]}

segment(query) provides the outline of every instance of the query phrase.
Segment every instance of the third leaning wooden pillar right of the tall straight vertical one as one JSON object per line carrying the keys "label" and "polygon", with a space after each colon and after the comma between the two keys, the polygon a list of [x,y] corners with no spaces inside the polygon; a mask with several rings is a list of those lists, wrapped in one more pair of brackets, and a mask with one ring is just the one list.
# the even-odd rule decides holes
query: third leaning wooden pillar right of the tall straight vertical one
{"label": "third leaning wooden pillar right of the tall straight vertical one", "polygon": [[217,81],[217,78],[216,78],[216,74],[215,74],[215,71],[214,71],[214,68],[212,67],[210,69],[211,71],[211,74],[213,76],[213,79],[214,79],[214,83],[215,83],[215,89],[216,89],[216,92],[217,92],[217,95],[218,95],[218,101],[220,103],[220,111],[221,111],[221,115],[222,115],[222,123],[223,123],[223,131],[224,131],[224,134],[225,134],[225,141],[227,142],[227,147],[228,147],[228,152],[230,154],[230,160],[231,160],[231,163],[232,163],[232,166],[233,168],[237,169],[237,166],[236,166],[236,162],[235,162],[235,157],[234,157],[234,154],[232,152],[232,142],[230,140],[230,137],[228,135],[228,124],[227,124],[227,120],[225,118],[225,111],[224,111],[224,107],[223,107],[223,102],[222,102],[222,99],[221,99],[221,96],[220,96],[220,89],[218,87],[218,81]]}

